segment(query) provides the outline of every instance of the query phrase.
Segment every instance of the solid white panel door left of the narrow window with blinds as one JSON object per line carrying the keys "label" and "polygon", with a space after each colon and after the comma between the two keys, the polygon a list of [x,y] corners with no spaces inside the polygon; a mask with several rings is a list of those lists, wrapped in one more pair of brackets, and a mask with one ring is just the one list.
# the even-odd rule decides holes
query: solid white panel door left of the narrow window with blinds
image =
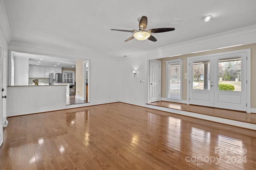
{"label": "solid white panel door left of the narrow window with blinds", "polygon": [[150,102],[160,101],[160,61],[150,61]]}

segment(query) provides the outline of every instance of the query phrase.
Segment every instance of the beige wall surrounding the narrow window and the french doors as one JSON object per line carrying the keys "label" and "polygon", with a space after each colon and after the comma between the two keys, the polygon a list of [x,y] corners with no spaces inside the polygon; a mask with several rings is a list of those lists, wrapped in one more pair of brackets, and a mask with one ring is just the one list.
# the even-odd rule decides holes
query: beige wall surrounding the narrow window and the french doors
{"label": "beige wall surrounding the narrow window and the french doors", "polygon": [[251,107],[256,108],[256,88],[253,88],[256,86],[256,76],[254,76],[254,73],[256,72],[256,67],[254,66],[256,64],[256,43],[248,44],[248,45],[241,45],[237,47],[230,47],[225,49],[216,49],[212,51],[205,51],[201,53],[192,53],[188,55],[181,55],[176,57],[167,57],[161,59],[162,62],[162,70],[161,70],[161,96],[162,98],[166,98],[166,61],[170,60],[176,60],[176,59],[182,59],[182,100],[187,100],[187,83],[186,79],[184,79],[184,73],[187,72],[187,59],[188,57],[196,57],[201,55],[210,55],[210,54],[216,54],[216,53],[224,53],[228,51],[236,51],[236,50],[242,50],[242,49],[251,49]]}

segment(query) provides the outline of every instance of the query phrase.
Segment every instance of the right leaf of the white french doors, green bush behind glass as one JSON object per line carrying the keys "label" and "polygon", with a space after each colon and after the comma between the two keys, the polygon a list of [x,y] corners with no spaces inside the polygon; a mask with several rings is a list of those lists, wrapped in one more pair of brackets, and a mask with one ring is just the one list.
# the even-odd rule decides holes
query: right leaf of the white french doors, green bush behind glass
{"label": "right leaf of the white french doors, green bush behind glass", "polygon": [[222,55],[214,60],[219,67],[214,70],[214,87],[234,86],[234,90],[214,90],[214,107],[246,111],[246,62],[246,53]]}

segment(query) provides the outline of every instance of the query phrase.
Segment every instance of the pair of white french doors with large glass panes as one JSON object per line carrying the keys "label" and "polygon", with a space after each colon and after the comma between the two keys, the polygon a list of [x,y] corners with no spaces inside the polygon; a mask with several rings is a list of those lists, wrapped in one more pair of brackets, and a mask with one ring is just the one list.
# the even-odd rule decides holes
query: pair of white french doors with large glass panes
{"label": "pair of white french doors with large glass panes", "polygon": [[189,104],[246,111],[247,55],[193,57],[189,62]]}

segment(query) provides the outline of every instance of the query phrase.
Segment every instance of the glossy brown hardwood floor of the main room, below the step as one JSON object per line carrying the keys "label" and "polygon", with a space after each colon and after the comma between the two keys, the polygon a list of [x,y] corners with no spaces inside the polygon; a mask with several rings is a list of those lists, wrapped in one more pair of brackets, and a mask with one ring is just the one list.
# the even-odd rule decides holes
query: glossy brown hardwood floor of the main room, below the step
{"label": "glossy brown hardwood floor of the main room, below the step", "polygon": [[256,167],[256,131],[124,103],[8,121],[1,170]]}

